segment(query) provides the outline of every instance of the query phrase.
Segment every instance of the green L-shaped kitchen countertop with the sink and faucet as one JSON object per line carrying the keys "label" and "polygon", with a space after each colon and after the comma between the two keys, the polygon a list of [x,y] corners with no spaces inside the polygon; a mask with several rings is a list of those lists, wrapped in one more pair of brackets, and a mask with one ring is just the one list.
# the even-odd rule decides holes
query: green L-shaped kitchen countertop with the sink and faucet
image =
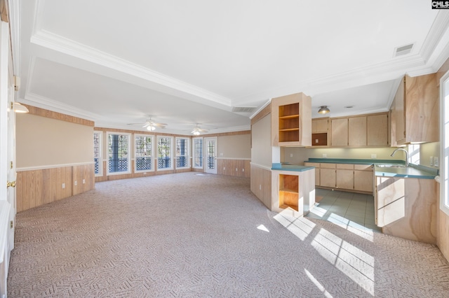
{"label": "green L-shaped kitchen countertop with the sink and faucet", "polygon": [[329,163],[329,164],[373,164],[375,176],[400,177],[400,178],[421,178],[434,179],[438,176],[438,169],[417,164],[410,164],[408,167],[384,168],[379,164],[399,164],[405,165],[403,160],[394,159],[330,159],[330,158],[309,158],[306,162]]}

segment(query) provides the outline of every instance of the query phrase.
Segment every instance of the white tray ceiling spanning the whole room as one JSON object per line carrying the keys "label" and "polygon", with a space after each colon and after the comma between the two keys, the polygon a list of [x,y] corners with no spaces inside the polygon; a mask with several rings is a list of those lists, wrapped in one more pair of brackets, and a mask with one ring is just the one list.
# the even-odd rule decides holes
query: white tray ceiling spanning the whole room
{"label": "white tray ceiling spanning the whole room", "polygon": [[422,0],[10,2],[18,101],[98,127],[239,131],[253,113],[232,107],[296,92],[313,118],[388,111],[404,74],[449,57],[449,11]]}

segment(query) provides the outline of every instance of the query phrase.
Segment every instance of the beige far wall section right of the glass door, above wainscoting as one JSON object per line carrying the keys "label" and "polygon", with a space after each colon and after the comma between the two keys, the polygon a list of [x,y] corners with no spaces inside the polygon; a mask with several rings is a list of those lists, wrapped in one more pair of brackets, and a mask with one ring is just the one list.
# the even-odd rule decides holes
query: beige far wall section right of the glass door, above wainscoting
{"label": "beige far wall section right of the glass door, above wainscoting", "polygon": [[251,158],[251,135],[218,136],[218,158]]}

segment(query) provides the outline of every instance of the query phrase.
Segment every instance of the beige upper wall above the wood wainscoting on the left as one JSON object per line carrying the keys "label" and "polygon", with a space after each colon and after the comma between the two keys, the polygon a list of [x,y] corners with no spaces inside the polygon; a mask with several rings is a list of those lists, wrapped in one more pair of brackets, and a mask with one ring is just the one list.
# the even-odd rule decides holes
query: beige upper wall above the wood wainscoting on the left
{"label": "beige upper wall above the wood wainscoting on the left", "polygon": [[17,167],[93,162],[93,127],[31,114],[16,115]]}

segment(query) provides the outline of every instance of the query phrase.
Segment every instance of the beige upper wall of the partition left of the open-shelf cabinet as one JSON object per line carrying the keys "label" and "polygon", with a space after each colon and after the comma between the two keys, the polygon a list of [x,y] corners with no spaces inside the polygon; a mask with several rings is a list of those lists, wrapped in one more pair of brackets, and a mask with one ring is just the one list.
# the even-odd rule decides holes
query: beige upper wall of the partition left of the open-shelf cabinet
{"label": "beige upper wall of the partition left of the open-shelf cabinet", "polygon": [[251,162],[260,166],[272,167],[272,119],[271,114],[252,125]]}

